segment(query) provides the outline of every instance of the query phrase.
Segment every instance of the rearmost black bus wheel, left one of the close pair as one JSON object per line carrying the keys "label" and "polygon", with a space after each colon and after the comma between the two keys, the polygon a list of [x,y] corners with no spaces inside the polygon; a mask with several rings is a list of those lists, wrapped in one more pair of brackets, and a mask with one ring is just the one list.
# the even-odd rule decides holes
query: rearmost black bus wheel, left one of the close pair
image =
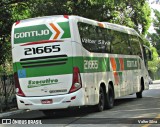
{"label": "rearmost black bus wheel, left one of the close pair", "polygon": [[96,105],[96,111],[101,112],[105,108],[105,93],[102,87],[99,89],[99,103]]}

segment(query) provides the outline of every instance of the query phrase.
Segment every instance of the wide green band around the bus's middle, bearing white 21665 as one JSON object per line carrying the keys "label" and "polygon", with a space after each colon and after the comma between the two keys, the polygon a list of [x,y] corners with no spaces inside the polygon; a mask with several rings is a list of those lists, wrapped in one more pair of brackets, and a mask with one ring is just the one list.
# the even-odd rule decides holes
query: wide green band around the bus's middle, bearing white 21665
{"label": "wide green band around the bus's middle, bearing white 21665", "polygon": [[[86,69],[86,61],[97,61],[98,68]],[[131,61],[128,65],[133,67],[127,67],[127,61]],[[134,64],[139,63],[138,59],[135,58],[124,58],[124,70],[135,70],[140,69],[140,64],[134,67]],[[28,62],[28,61],[27,61]],[[118,65],[118,70],[120,70],[120,63],[116,60]],[[62,74],[72,74],[73,67],[77,66],[80,69],[80,73],[95,73],[95,72],[106,72],[110,71],[110,60],[105,57],[68,57],[66,64],[55,65],[55,66],[45,66],[45,67],[35,67],[35,68],[23,68],[20,62],[14,63],[14,72],[18,70],[25,69],[26,77],[38,77],[38,76],[49,76],[49,75],[62,75]],[[88,67],[88,66],[87,66]]]}

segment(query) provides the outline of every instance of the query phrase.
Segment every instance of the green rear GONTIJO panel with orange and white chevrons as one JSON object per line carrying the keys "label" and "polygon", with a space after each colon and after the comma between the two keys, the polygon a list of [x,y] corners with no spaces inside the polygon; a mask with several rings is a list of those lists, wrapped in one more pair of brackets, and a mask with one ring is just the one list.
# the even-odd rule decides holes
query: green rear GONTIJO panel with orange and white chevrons
{"label": "green rear GONTIJO panel with orange and white chevrons", "polygon": [[69,22],[41,24],[14,29],[14,44],[70,37]]}

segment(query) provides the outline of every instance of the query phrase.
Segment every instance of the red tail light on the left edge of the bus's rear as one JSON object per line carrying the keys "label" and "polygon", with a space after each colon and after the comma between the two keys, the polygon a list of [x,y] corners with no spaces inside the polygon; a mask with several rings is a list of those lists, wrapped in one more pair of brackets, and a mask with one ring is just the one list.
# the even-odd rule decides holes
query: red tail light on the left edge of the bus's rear
{"label": "red tail light on the left edge of the bus's rear", "polygon": [[23,91],[20,87],[17,73],[14,73],[14,81],[15,81],[15,87],[16,87],[16,94],[19,96],[25,97],[25,94],[23,93]]}

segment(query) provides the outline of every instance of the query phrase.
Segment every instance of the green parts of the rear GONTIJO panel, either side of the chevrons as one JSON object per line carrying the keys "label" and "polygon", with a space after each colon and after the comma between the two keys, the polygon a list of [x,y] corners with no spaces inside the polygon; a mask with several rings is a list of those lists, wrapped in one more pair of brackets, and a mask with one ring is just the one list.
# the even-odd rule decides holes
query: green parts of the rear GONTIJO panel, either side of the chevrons
{"label": "green parts of the rear GONTIJO panel, either side of the chevrons", "polygon": [[[61,38],[70,38],[71,33],[69,22],[60,22],[57,24],[64,31]],[[49,40],[53,33],[54,30],[52,32],[45,24],[15,28],[13,35],[14,44]]]}

